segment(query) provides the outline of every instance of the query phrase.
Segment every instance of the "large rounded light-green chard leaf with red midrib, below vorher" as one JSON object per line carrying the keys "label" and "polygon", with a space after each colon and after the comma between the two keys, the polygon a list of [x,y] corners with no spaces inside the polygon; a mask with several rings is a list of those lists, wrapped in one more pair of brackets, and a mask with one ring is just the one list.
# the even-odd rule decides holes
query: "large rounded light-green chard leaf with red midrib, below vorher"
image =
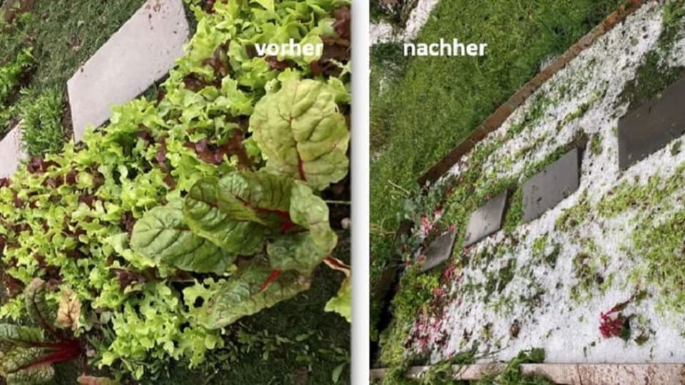
{"label": "large rounded light-green chard leaf with red midrib, below vorher", "polygon": [[316,190],[345,178],[350,133],[337,95],[326,83],[290,79],[257,103],[250,130],[269,170]]}

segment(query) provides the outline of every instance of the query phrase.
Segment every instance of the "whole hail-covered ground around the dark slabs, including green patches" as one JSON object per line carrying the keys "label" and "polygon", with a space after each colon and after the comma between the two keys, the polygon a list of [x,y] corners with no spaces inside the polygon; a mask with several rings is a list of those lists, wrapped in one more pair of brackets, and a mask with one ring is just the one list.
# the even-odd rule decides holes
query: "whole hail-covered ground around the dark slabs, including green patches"
{"label": "whole hail-covered ground around the dark slabs, including green patches", "polygon": [[[626,95],[646,87],[635,80],[639,68],[654,58],[659,71],[685,66],[684,29],[661,34],[671,16],[664,9],[642,6],[475,148],[494,148],[477,185],[487,188],[523,183],[530,165],[579,133],[588,138],[575,193],[537,220],[455,252],[462,262],[454,278],[434,291],[440,309],[412,326],[412,353],[437,362],[477,344],[500,360],[531,347],[544,348],[548,362],[685,360],[685,150],[674,140],[627,170],[618,166]],[[458,180],[471,164],[465,158],[450,173]],[[459,204],[448,202],[445,217]],[[617,304],[624,308],[607,318],[621,335],[604,337],[601,314]]]}

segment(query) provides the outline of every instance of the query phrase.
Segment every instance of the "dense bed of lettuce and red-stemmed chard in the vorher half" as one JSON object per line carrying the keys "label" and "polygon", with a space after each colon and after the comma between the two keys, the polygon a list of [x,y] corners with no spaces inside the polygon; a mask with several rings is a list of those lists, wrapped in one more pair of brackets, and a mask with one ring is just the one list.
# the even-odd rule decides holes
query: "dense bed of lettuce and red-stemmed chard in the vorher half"
{"label": "dense bed of lettuce and red-stemmed chard in the vorher half", "polygon": [[[349,2],[188,2],[196,33],[156,98],[0,180],[8,384],[56,381],[66,361],[81,384],[160,383],[177,365],[230,370],[252,348],[268,360],[348,335]],[[255,56],[255,43],[291,38],[323,55]],[[340,282],[325,304],[307,294],[321,277]],[[247,326],[285,302],[302,302],[288,317],[304,326],[326,311],[338,327],[286,338]],[[326,378],[346,381],[345,349],[291,364],[306,378],[312,356],[335,356]],[[206,383],[243,383],[223,377]]]}

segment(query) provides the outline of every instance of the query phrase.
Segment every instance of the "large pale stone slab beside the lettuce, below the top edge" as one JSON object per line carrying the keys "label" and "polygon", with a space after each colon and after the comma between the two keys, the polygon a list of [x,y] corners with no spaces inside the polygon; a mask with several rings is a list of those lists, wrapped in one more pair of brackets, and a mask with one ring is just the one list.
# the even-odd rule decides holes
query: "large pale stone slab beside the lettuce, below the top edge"
{"label": "large pale stone slab beside the lettuce, below the top edge", "polygon": [[148,0],[138,9],[67,82],[74,140],[165,76],[188,32],[183,0]]}

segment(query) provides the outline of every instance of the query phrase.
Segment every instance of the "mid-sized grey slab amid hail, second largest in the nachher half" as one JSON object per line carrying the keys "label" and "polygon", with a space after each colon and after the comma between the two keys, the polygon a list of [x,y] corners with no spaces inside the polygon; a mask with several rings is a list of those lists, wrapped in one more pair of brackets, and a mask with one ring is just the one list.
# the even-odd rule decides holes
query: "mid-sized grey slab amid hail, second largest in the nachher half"
{"label": "mid-sized grey slab amid hail, second largest in the nachher half", "polygon": [[530,222],[578,190],[580,153],[573,148],[523,185],[523,220]]}

